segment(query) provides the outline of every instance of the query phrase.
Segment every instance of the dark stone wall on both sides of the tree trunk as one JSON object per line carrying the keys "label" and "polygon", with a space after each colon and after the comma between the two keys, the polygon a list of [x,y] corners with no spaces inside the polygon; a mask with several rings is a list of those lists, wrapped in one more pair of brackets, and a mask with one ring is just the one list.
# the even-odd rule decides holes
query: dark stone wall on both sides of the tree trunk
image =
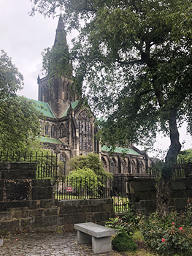
{"label": "dark stone wall on both sides of the tree trunk", "polygon": [[[145,215],[156,209],[156,182],[151,178],[129,178],[128,195],[136,211]],[[178,178],[172,181],[169,201],[170,210],[181,211],[185,208],[188,198],[192,197],[191,178]]]}

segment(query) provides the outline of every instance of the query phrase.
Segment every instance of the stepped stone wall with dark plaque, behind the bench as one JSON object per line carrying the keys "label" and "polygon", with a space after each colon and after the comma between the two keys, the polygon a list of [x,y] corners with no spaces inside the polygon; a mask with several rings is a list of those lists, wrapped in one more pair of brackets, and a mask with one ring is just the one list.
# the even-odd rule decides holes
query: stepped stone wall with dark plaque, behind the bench
{"label": "stepped stone wall with dark plaque, behind the bench", "polygon": [[51,180],[35,178],[34,163],[0,163],[0,235],[72,230],[74,223],[104,224],[112,199],[55,200]]}

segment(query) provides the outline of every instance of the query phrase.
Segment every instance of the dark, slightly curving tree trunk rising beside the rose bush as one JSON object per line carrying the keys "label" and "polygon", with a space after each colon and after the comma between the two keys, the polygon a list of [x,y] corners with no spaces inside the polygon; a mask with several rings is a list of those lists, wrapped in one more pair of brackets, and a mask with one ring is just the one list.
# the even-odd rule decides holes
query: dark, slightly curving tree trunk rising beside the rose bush
{"label": "dark, slightly curving tree trunk rising beside the rose bush", "polygon": [[170,184],[172,180],[173,167],[177,162],[177,156],[180,153],[180,135],[177,129],[176,111],[170,110],[169,116],[169,136],[171,145],[166,154],[166,159],[162,167],[162,176],[157,185],[156,194],[156,211],[161,218],[169,214],[169,200],[170,200]]}

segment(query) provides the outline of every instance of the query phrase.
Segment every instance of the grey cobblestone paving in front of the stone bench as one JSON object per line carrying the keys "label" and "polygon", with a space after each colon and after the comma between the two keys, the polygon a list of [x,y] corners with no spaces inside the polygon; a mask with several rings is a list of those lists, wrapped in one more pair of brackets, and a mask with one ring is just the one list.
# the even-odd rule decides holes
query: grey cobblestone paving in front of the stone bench
{"label": "grey cobblestone paving in front of the stone bench", "polygon": [[[15,241],[15,239],[17,239]],[[0,256],[94,255],[89,244],[77,244],[77,233],[34,233],[4,237]],[[117,252],[99,256],[120,256]]]}

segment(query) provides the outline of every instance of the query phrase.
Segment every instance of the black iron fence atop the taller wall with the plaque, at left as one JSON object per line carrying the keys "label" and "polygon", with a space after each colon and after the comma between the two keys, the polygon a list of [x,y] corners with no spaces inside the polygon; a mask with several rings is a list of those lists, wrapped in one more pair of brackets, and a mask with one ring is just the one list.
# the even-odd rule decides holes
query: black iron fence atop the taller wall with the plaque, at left
{"label": "black iron fence atop the taller wall with the plaque, at left", "polygon": [[56,178],[57,155],[50,151],[1,151],[0,162],[37,162],[37,178]]}

